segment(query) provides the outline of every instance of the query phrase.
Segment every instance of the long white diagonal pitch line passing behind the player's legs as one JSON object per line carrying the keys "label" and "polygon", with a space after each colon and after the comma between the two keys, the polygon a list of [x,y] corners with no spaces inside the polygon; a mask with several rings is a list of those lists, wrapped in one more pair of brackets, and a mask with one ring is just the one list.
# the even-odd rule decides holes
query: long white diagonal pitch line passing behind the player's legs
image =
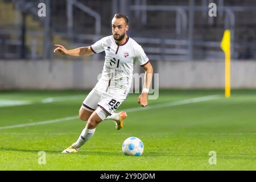
{"label": "long white diagonal pitch line passing behind the player's legs", "polygon": [[[204,96],[204,97],[197,97],[197,98],[189,98],[187,100],[167,102],[167,103],[164,103],[164,104],[156,104],[156,105],[147,106],[147,107],[133,107],[133,108],[130,108],[130,109],[126,109],[125,111],[131,113],[131,112],[134,112],[134,111],[141,111],[141,110],[148,110],[148,109],[158,109],[158,108],[162,108],[162,107],[172,107],[172,106],[179,106],[179,105],[191,104],[191,103],[196,103],[196,102],[209,101],[209,100],[214,100],[216,98],[220,98],[220,96],[219,95],[212,95],[212,96]],[[78,116],[72,116],[72,117],[52,119],[52,120],[47,120],[47,121],[35,122],[35,123],[24,123],[24,124],[20,124],[20,125],[3,126],[3,127],[0,127],[0,130],[13,129],[13,128],[17,128],[17,127],[26,127],[26,126],[46,125],[46,124],[49,124],[49,123],[70,121],[70,120],[78,119],[78,118],[79,118]]]}

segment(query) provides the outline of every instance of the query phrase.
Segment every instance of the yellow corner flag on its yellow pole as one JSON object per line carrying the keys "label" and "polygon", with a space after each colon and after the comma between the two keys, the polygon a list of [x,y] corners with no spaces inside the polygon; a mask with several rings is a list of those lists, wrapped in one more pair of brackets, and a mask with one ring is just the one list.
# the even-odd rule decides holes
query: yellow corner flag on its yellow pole
{"label": "yellow corner flag on its yellow pole", "polygon": [[225,30],[221,48],[225,52],[225,97],[230,97],[230,30]]}

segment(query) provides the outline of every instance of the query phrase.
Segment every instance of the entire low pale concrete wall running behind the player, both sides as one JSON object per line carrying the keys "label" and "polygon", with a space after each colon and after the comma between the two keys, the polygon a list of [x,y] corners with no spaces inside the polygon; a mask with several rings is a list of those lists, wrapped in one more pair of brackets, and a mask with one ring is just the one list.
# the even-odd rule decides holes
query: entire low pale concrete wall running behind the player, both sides
{"label": "entire low pale concrete wall running behind the player, both sides", "polygon": [[[90,89],[103,61],[0,60],[0,89]],[[160,88],[224,88],[224,61],[154,61]],[[256,88],[256,61],[232,61],[232,88]],[[143,72],[139,65],[135,72]]]}

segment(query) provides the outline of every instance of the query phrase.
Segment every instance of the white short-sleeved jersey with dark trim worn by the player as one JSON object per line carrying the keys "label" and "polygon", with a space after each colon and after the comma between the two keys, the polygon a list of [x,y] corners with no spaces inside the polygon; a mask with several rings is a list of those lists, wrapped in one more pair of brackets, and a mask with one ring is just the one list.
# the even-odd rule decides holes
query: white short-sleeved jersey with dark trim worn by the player
{"label": "white short-sleeved jersey with dark trim worn by the player", "polygon": [[124,44],[117,44],[111,35],[98,40],[90,49],[94,53],[105,51],[106,55],[102,76],[94,89],[106,92],[110,97],[125,99],[130,90],[135,63],[143,66],[149,62],[142,47],[129,37]]}

